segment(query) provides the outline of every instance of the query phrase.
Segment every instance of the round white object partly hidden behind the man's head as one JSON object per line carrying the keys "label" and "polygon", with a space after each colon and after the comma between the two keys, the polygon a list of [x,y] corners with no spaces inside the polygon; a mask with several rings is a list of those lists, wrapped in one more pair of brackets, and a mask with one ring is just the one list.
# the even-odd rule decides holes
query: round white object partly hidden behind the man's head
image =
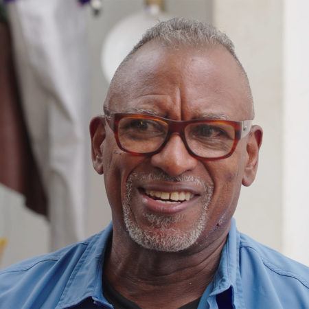
{"label": "round white object partly hidden behind the man's head", "polygon": [[117,23],[102,46],[101,65],[106,80],[111,82],[117,67],[148,28],[171,18],[172,16],[161,12],[157,5],[149,5]]}

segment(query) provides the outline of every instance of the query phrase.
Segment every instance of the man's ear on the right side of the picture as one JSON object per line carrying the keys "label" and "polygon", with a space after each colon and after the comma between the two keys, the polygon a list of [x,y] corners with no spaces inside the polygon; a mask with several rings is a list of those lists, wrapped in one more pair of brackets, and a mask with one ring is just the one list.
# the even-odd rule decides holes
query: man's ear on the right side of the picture
{"label": "man's ear on the right side of the picture", "polygon": [[258,170],[259,150],[262,145],[263,130],[260,126],[252,126],[247,141],[247,162],[244,166],[242,185],[248,187],[253,183]]}

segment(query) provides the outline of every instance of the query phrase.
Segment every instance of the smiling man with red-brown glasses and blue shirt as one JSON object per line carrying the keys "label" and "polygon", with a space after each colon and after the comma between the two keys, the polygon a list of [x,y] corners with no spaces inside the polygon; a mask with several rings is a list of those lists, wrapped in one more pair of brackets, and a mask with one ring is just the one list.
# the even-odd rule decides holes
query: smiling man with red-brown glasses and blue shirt
{"label": "smiling man with red-brown glasses and blue shirt", "polygon": [[113,226],[3,271],[1,308],[309,308],[308,268],[231,219],[258,168],[253,115],[227,36],[184,19],[148,30],[90,125]]}

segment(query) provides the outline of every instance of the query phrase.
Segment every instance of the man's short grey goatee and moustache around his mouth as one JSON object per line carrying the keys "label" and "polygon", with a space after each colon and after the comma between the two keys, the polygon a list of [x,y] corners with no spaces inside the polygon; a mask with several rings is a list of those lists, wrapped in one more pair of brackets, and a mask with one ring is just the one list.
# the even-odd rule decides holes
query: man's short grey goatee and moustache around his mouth
{"label": "man's short grey goatee and moustache around his mouth", "polygon": [[[138,177],[138,178],[136,178]],[[205,188],[205,197],[203,198],[203,207],[198,220],[193,223],[192,229],[188,231],[182,231],[181,229],[175,229],[172,227],[177,222],[184,220],[184,216],[179,214],[176,216],[164,216],[157,214],[144,214],[144,217],[150,222],[152,229],[141,229],[135,221],[132,209],[130,207],[130,201],[132,196],[132,183],[135,179],[139,181],[146,180],[168,180],[168,181],[190,181],[202,184]],[[212,194],[214,192],[213,185],[206,185],[200,179],[193,176],[178,176],[170,177],[163,172],[156,174],[136,174],[133,173],[128,177],[126,183],[126,196],[122,203],[124,223],[126,229],[130,235],[130,238],[137,242],[146,249],[152,249],[155,251],[163,252],[178,252],[194,244],[201,233],[204,231],[207,223],[207,211],[211,201]]]}

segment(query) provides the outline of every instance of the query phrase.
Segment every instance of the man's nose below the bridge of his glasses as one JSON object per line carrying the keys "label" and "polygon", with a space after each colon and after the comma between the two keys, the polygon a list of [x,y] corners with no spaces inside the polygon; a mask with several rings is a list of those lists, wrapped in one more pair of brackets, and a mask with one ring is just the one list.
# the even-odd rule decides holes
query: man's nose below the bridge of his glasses
{"label": "man's nose below the bridge of his glasses", "polygon": [[172,134],[161,152],[151,157],[151,163],[170,176],[179,176],[184,172],[193,170],[198,161],[187,152],[181,137],[177,134]]}

